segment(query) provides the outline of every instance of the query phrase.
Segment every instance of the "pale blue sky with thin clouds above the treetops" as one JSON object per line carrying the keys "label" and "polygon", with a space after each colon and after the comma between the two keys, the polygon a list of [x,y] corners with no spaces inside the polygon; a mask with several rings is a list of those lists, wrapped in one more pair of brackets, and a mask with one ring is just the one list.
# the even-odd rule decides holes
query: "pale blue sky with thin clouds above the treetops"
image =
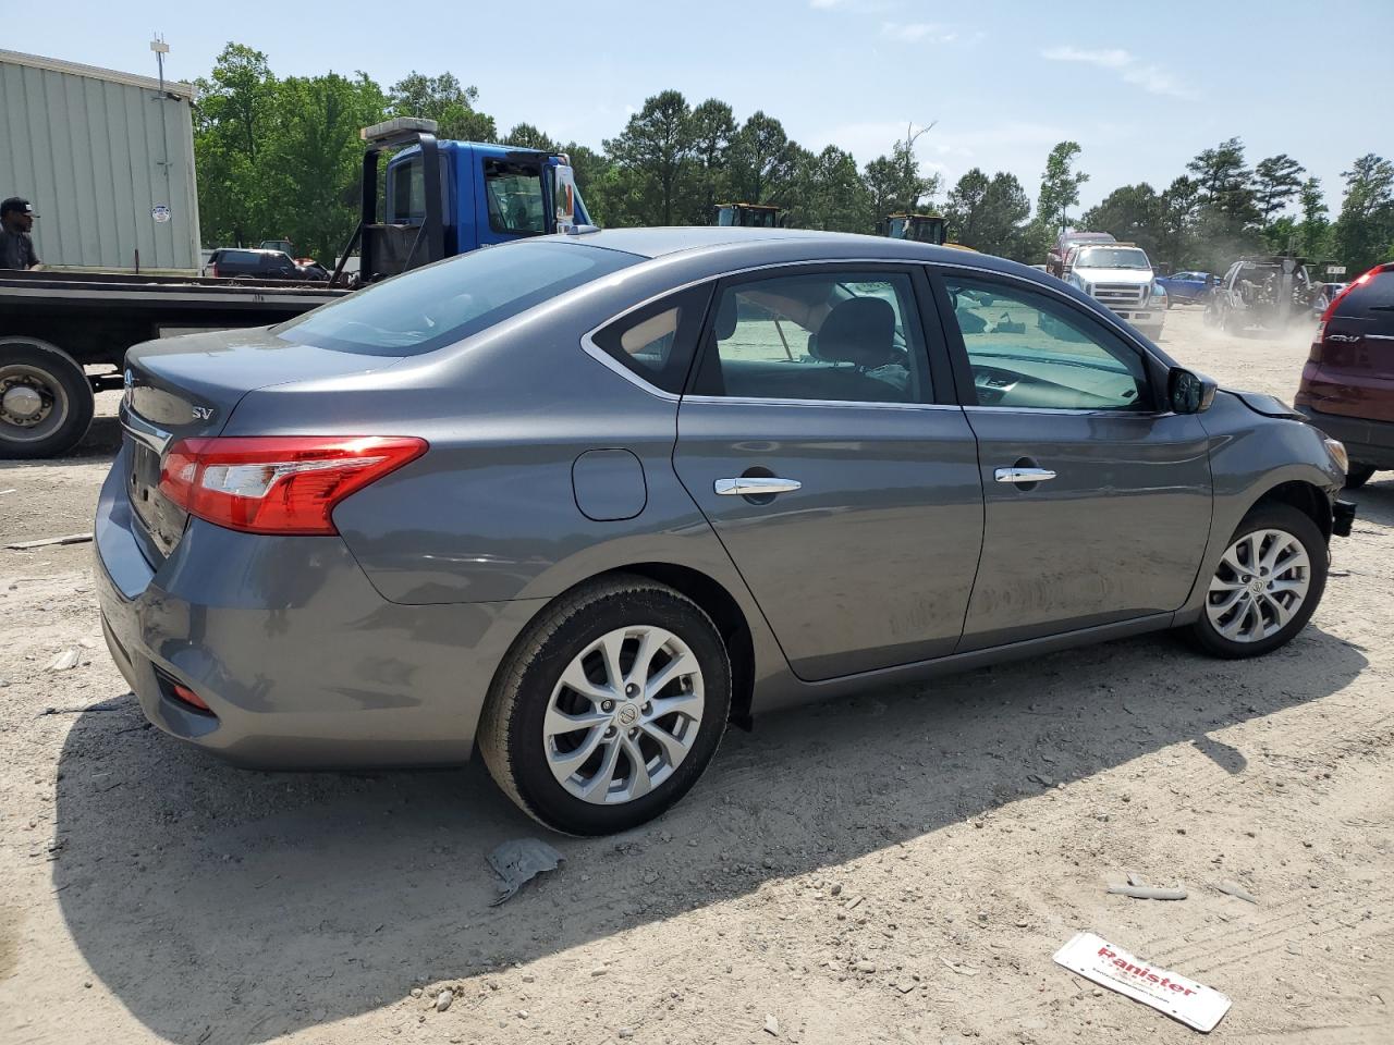
{"label": "pale blue sky with thin clouds above the treetops", "polygon": [[907,123],[938,121],[917,150],[948,184],[973,166],[1009,170],[1033,199],[1050,146],[1072,138],[1086,206],[1122,184],[1161,189],[1238,135],[1250,163],[1287,152],[1319,176],[1334,216],[1340,171],[1394,153],[1377,86],[1391,0],[106,0],[28,4],[0,46],[151,72],[156,29],[171,78],[205,74],[227,40],[266,52],[277,74],[362,70],[388,85],[449,70],[500,130],[527,120],[595,146],[664,88],[721,98],[737,117],[763,109],[803,145],[860,163]]}

